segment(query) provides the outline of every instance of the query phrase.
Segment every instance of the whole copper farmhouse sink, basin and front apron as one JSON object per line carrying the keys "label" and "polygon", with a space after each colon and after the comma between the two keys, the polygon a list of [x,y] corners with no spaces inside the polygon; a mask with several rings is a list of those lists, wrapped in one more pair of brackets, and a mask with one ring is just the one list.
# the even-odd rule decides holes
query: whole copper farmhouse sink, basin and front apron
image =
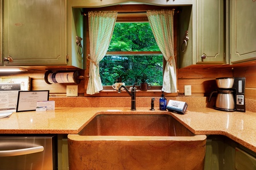
{"label": "whole copper farmhouse sink, basin and front apron", "polygon": [[169,114],[99,114],[68,135],[70,169],[203,169],[205,135]]}

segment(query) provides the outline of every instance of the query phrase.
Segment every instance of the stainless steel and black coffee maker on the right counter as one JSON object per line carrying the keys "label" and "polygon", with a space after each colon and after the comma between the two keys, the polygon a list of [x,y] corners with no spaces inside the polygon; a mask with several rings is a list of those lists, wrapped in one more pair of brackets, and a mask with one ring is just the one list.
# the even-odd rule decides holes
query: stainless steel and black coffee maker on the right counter
{"label": "stainless steel and black coffee maker on the right counter", "polygon": [[214,109],[220,111],[245,112],[245,78],[216,78],[218,90],[210,93],[217,93]]}

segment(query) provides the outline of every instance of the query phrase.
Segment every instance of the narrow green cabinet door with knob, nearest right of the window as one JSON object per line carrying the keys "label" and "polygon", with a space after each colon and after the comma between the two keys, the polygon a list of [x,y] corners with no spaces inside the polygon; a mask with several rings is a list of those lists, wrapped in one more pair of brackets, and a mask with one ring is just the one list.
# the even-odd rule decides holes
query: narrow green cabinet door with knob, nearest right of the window
{"label": "narrow green cabinet door with knob, nearest right of the window", "polygon": [[197,19],[197,63],[226,63],[224,1],[197,1]]}

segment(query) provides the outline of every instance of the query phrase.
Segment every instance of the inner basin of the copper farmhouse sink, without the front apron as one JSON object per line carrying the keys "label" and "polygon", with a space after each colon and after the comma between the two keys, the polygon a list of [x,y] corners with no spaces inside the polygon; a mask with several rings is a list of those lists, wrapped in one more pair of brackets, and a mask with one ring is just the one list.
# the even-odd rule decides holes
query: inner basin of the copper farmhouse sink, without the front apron
{"label": "inner basin of the copper farmhouse sink, without the front apron", "polygon": [[194,136],[168,114],[100,114],[79,135]]}

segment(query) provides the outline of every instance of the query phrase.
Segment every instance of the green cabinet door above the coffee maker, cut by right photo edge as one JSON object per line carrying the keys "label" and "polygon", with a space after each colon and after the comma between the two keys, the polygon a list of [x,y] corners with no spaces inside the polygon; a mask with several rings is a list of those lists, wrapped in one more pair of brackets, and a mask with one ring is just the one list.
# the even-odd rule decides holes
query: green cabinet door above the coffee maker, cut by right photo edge
{"label": "green cabinet door above the coffee maker, cut by right photo edge", "polygon": [[230,62],[256,59],[256,1],[230,1]]}

